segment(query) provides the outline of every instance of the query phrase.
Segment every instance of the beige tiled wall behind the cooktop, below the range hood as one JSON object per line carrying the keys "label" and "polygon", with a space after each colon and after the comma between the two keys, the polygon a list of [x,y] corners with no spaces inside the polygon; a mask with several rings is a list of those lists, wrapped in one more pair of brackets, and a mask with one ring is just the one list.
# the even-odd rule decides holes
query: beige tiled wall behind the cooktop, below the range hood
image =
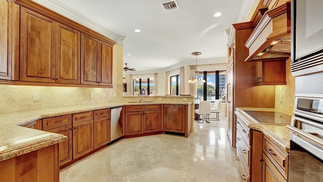
{"label": "beige tiled wall behind the cooktop, below the range hood", "polygon": [[293,115],[295,97],[295,77],[291,74],[291,60],[286,61],[286,85],[276,85],[275,110]]}

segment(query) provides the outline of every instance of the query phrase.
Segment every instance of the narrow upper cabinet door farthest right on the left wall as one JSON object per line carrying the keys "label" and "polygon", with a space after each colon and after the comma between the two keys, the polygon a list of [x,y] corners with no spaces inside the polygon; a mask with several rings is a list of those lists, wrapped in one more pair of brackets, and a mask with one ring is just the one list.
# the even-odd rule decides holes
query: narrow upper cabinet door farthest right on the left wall
{"label": "narrow upper cabinet door farthest right on the left wall", "polygon": [[100,41],[99,84],[112,85],[112,45]]}

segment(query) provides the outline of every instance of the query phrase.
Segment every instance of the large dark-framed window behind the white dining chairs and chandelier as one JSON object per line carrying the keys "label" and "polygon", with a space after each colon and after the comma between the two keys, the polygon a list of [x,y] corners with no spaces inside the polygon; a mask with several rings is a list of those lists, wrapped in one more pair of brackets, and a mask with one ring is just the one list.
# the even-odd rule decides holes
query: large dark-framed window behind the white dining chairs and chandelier
{"label": "large dark-framed window behind the white dining chairs and chandelier", "polygon": [[198,72],[198,77],[204,78],[205,83],[196,84],[196,94],[201,101],[211,101],[219,99],[226,94],[226,71],[203,71]]}

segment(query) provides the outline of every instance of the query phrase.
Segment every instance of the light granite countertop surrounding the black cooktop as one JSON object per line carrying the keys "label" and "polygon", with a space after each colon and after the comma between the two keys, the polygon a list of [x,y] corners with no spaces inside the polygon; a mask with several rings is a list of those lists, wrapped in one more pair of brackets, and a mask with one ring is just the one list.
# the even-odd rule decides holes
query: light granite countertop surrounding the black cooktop
{"label": "light granite countertop surrounding the black cooktop", "polygon": [[[279,146],[282,150],[289,152],[290,149],[290,130],[286,127],[286,124],[268,124],[254,122],[254,118],[248,115],[244,111],[272,111],[272,109],[266,108],[236,108],[235,114],[240,116],[249,128],[261,131],[267,138]],[[286,121],[290,122],[290,121]]]}

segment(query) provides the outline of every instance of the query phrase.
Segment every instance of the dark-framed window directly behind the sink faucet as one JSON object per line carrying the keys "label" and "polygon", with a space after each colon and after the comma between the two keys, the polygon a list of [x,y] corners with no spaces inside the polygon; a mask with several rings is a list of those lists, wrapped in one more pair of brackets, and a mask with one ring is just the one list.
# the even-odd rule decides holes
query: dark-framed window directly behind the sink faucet
{"label": "dark-framed window directly behind the sink faucet", "polygon": [[141,95],[154,95],[154,79],[153,78],[134,78],[132,79],[133,95],[138,95],[139,90]]}

